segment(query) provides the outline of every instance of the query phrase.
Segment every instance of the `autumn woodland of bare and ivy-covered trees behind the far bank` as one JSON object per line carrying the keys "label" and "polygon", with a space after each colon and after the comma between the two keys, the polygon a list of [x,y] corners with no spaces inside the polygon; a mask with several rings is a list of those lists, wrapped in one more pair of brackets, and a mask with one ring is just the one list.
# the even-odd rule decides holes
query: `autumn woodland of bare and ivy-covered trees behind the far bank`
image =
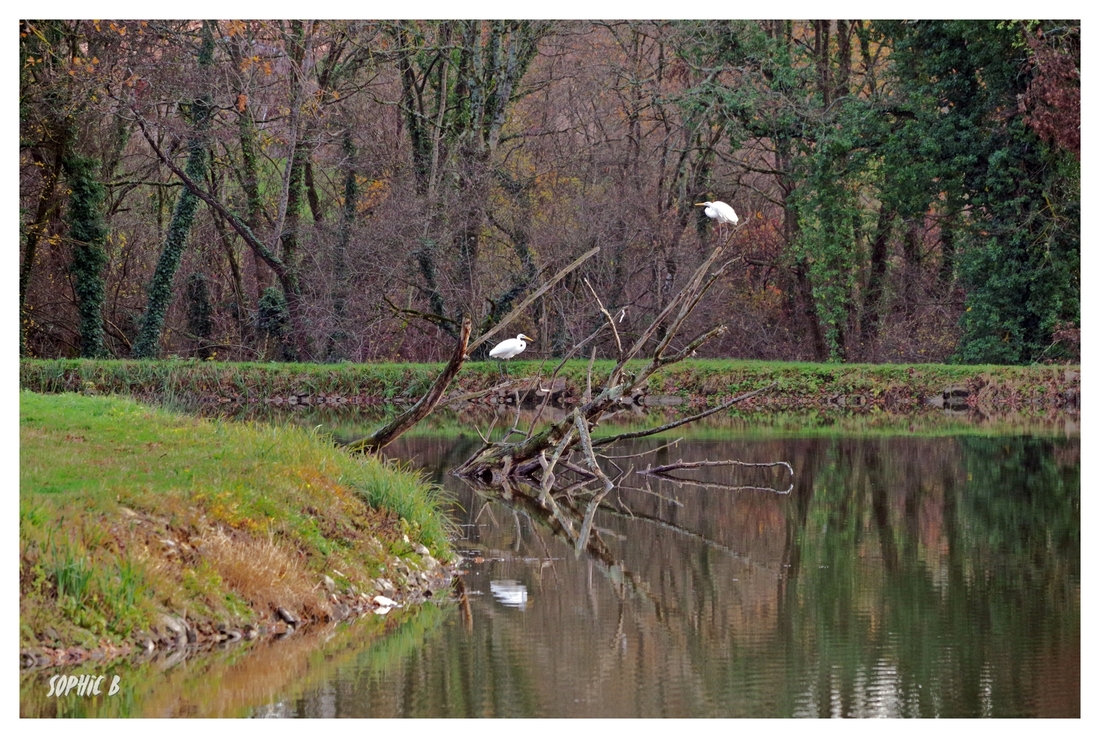
{"label": "autumn woodland of bare and ivy-covered trees behind the far bank", "polygon": [[707,355],[1079,361],[1080,48],[1072,20],[23,21],[20,350],[440,361],[598,246],[507,331],[562,355],[593,291],[629,340],[728,236]]}

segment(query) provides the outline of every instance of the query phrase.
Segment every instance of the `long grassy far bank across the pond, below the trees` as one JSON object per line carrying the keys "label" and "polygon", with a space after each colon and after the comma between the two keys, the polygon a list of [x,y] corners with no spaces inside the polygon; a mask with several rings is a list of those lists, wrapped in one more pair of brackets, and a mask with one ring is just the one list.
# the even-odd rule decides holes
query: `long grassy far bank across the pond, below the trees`
{"label": "long grassy far bank across the pond, below the trees", "polygon": [[[640,362],[639,362],[640,365]],[[547,377],[553,360],[513,360],[512,378]],[[614,363],[597,361],[594,382]],[[382,405],[419,397],[441,364],[220,364],[199,361],[23,360],[20,386],[42,393],[96,392],[156,397],[158,400],[237,403],[351,403]],[[560,372],[579,397],[586,361]],[[469,362],[454,393],[475,393],[499,382],[498,362]],[[884,409],[908,412],[965,388],[970,406],[988,412],[1074,406],[1080,393],[1079,366],[976,366],[949,364],[812,364],[692,359],[669,366],[650,381],[650,395],[676,396],[692,407],[714,406],[732,396],[777,383],[737,411]]]}

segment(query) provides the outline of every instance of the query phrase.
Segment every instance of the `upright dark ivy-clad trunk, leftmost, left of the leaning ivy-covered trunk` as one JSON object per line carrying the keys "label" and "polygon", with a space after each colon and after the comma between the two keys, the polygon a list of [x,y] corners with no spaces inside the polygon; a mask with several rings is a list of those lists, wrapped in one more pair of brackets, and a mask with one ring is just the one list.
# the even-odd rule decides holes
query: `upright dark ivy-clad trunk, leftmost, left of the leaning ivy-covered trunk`
{"label": "upright dark ivy-clad trunk, leftmost, left of the leaning ivy-covered trunk", "polygon": [[102,356],[103,348],[103,267],[107,266],[107,225],[102,205],[106,192],[96,178],[99,162],[88,156],[69,155],[63,166],[68,177],[69,202],[65,211],[68,238],[73,244],[73,290],[80,313],[80,355]]}

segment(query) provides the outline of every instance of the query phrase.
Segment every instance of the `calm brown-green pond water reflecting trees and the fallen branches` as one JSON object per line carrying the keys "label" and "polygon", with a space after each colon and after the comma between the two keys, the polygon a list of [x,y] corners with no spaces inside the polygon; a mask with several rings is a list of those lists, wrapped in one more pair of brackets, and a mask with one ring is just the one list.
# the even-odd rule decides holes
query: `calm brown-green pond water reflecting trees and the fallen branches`
{"label": "calm brown-green pond water reflecting trees and the fallen branches", "polygon": [[454,498],[460,601],[404,613],[381,638],[372,616],[135,668],[123,685],[163,686],[131,687],[124,707],[47,701],[48,674],[24,675],[24,714],[1080,715],[1074,434],[681,441],[617,463],[785,461],[793,480],[782,467],[631,474],[581,547],[521,495],[447,475],[475,441],[387,449]]}

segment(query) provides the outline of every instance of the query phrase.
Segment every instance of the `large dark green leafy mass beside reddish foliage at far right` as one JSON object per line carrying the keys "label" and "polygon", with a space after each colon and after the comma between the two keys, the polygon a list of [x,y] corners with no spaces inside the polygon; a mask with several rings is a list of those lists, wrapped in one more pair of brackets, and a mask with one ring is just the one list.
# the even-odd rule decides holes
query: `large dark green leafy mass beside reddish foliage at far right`
{"label": "large dark green leafy mass beside reddish foliage at far right", "polygon": [[913,125],[934,142],[899,170],[915,168],[946,196],[943,268],[966,289],[964,363],[1057,359],[1056,327],[1080,323],[1080,166],[1019,111],[1040,25],[891,26],[899,77],[923,111]]}

